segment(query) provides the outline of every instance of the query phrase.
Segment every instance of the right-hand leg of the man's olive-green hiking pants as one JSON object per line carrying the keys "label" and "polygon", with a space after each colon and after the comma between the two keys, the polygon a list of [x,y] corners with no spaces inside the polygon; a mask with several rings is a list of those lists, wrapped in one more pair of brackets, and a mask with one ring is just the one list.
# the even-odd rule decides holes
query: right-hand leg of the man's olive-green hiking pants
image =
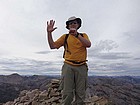
{"label": "right-hand leg of the man's olive-green hiking pants", "polygon": [[87,88],[88,67],[82,65],[75,67],[75,105],[85,105],[85,96]]}

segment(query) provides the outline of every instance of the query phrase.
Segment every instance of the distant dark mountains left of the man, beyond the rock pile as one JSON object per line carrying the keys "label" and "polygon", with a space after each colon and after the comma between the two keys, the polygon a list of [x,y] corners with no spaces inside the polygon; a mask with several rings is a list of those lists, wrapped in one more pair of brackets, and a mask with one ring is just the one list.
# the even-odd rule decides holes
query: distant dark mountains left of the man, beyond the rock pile
{"label": "distant dark mountains left of the man, beyond the rock pile", "polygon": [[0,75],[0,103],[14,100],[22,90],[44,90],[51,79],[52,77],[39,75]]}

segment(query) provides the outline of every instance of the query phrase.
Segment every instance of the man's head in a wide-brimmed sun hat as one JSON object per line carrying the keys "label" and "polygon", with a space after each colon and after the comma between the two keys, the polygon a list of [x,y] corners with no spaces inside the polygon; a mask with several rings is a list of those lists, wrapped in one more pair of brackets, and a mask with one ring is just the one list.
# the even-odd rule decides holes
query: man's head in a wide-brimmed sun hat
{"label": "man's head in a wide-brimmed sun hat", "polygon": [[80,18],[76,18],[75,16],[70,17],[68,19],[68,21],[66,21],[66,28],[70,29],[70,28],[76,28],[79,29],[81,27],[81,19]]}

